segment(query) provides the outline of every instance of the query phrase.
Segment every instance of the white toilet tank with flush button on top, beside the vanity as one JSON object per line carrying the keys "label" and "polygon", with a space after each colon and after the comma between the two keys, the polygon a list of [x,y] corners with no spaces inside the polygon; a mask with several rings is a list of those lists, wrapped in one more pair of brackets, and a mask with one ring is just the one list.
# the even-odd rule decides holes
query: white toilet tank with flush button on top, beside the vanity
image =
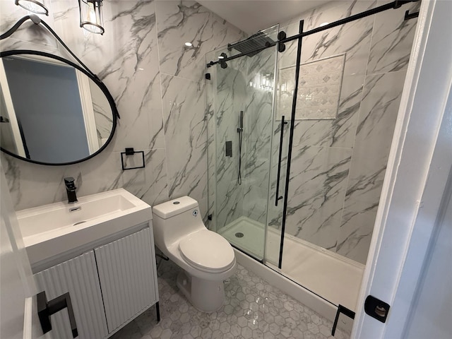
{"label": "white toilet tank with flush button on top, beside the vanity", "polygon": [[182,196],[153,207],[154,239],[157,247],[165,253],[168,246],[182,237],[206,229],[199,211],[198,201]]}

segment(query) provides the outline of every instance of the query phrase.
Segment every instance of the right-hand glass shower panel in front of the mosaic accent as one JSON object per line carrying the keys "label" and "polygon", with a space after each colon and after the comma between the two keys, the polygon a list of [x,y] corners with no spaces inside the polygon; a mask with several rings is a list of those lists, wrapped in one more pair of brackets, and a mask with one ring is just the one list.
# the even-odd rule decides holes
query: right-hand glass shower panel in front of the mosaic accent
{"label": "right-hand glass shower panel in front of the mosaic accent", "polygon": [[[283,28],[287,35],[300,34],[302,40],[286,43],[277,66],[275,117],[291,112],[294,121],[289,124],[287,206],[284,214],[269,212],[268,222],[267,239],[271,225],[283,227],[283,246],[278,263],[271,255],[266,263],[328,302],[352,311],[357,306],[405,78],[404,71],[391,69],[387,50],[381,45],[376,48],[374,35],[384,25],[393,36],[403,36],[406,44],[391,45],[391,49],[407,55],[404,60],[408,61],[411,41],[405,33],[415,28],[403,16],[406,8],[372,16],[374,9],[350,17],[348,23],[338,21],[331,30],[319,32],[309,20]],[[334,10],[319,17],[330,18],[331,13]],[[373,32],[372,40],[362,39],[357,32]],[[380,73],[376,60],[388,63],[388,73]],[[267,252],[270,249],[268,244]]]}

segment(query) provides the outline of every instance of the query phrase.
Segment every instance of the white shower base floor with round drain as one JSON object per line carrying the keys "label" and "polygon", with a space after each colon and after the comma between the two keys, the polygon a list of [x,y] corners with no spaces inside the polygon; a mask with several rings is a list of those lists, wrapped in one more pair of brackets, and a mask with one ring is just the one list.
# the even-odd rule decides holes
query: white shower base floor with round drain
{"label": "white shower base floor with round drain", "polygon": [[[241,232],[243,237],[236,237]],[[220,230],[220,234],[237,248],[263,258],[265,227],[259,222],[241,217]],[[335,305],[355,311],[364,265],[339,256],[302,239],[285,235],[282,270],[277,266],[280,232],[269,227],[266,239],[265,263],[307,290]]]}

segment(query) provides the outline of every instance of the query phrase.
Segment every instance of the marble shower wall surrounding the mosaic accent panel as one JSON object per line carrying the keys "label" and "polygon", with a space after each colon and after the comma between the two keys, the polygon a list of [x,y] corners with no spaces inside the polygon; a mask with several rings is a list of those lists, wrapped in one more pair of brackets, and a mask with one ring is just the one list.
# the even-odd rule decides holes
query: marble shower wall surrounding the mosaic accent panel
{"label": "marble shower wall surrounding the mosaic accent panel", "polygon": [[[306,31],[386,2],[333,1],[281,29],[293,35],[300,19]],[[295,121],[286,231],[360,263],[367,260],[415,32],[416,20],[403,20],[408,9],[303,40],[302,63],[343,53],[346,59],[336,119]],[[293,66],[296,52],[296,42],[288,44],[278,68]],[[280,218],[270,208],[270,225],[278,227]]]}

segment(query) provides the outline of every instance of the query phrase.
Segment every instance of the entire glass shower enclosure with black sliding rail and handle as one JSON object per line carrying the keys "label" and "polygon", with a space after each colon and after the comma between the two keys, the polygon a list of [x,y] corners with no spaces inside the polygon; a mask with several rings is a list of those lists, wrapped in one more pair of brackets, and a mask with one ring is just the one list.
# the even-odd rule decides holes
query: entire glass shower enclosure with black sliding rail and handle
{"label": "entire glass shower enclosure with black sliding rail and handle", "polygon": [[[206,55],[208,227],[352,311],[405,78],[386,47],[402,67],[415,28],[393,6],[344,3],[319,14],[334,23],[288,23],[287,39],[274,26]],[[370,39],[381,27],[405,43]]]}

